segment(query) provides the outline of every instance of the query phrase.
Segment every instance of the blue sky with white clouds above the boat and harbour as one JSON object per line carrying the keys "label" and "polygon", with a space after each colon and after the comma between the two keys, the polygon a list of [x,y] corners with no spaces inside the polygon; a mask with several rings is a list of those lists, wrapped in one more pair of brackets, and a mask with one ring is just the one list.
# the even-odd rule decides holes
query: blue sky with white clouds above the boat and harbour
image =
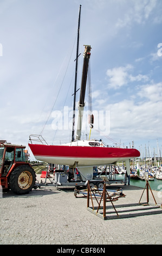
{"label": "blue sky with white clouds above the boat and harbour", "polygon": [[[84,45],[91,45],[90,138],[125,147],[133,142],[142,154],[159,154],[161,0],[1,0],[0,139],[27,149],[32,134],[48,144],[71,140],[80,5],[77,89]],[[87,92],[85,101],[82,139],[90,131]]]}

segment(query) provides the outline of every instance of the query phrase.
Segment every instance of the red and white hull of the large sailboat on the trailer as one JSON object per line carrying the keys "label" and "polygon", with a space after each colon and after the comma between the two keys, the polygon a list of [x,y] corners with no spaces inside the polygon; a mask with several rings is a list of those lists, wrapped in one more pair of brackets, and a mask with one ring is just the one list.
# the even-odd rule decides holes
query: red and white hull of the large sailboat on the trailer
{"label": "red and white hull of the large sailboat on the trailer", "polygon": [[140,156],[137,149],[29,144],[38,161],[73,166],[100,166]]}

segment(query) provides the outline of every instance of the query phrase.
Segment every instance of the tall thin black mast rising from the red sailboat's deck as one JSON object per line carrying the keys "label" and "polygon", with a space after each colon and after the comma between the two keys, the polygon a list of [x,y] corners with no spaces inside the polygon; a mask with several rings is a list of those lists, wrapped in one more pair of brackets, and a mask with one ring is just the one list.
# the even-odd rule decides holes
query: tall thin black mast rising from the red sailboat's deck
{"label": "tall thin black mast rising from the red sailboat's deck", "polygon": [[78,28],[77,28],[77,46],[76,46],[76,65],[75,65],[75,85],[74,85],[74,103],[73,103],[73,127],[72,127],[72,141],[74,141],[74,129],[75,129],[75,102],[76,102],[76,83],[77,83],[77,60],[78,60],[78,51],[79,51],[79,32],[80,32],[80,13],[81,5],[79,7],[79,19],[78,19]]}

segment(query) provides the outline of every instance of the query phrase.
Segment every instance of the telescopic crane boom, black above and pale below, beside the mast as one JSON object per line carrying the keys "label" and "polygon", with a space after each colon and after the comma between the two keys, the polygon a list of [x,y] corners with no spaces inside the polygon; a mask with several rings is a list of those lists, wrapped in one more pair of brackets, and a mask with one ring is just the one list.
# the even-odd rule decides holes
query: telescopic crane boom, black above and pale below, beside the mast
{"label": "telescopic crane boom, black above and pale below, beside the mast", "polygon": [[81,90],[80,90],[80,100],[78,103],[78,118],[77,118],[77,130],[76,130],[76,139],[80,140],[81,138],[81,129],[82,129],[82,117],[85,107],[85,93],[86,93],[86,84],[87,84],[87,73],[88,73],[88,64],[90,58],[90,45],[84,45],[85,52],[83,54],[83,69],[82,69],[82,80],[81,80]]}

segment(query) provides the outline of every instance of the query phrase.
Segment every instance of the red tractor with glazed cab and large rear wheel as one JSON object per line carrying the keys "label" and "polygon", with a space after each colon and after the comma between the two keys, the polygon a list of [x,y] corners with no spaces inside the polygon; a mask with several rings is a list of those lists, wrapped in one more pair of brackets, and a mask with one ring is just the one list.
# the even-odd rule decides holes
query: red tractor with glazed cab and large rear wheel
{"label": "red tractor with glazed cab and large rear wheel", "polygon": [[35,185],[36,174],[25,162],[25,146],[0,142],[0,186],[16,194],[29,193]]}

